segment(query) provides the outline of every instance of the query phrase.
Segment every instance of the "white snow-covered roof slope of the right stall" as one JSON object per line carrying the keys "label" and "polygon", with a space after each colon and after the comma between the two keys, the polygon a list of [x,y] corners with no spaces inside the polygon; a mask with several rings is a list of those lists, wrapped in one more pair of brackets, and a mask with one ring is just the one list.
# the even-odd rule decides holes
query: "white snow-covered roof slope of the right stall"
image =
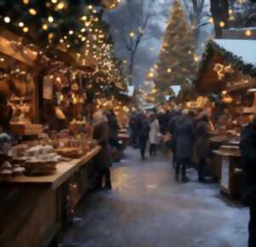
{"label": "white snow-covered roof slope of the right stall", "polygon": [[256,40],[214,39],[219,47],[238,56],[245,64],[256,66]]}

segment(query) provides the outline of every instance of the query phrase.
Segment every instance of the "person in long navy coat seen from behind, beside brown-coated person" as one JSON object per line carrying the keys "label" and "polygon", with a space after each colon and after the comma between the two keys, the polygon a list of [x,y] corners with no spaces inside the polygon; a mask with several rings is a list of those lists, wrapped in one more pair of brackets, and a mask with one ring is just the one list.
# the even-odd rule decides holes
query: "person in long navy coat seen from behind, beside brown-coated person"
{"label": "person in long navy coat seen from behind, beside brown-coated person", "polygon": [[176,180],[179,179],[180,168],[182,167],[183,182],[189,181],[186,176],[186,168],[191,164],[193,141],[194,141],[194,119],[189,116],[188,110],[183,110],[183,114],[177,118],[177,128],[175,133],[175,150],[177,157]]}

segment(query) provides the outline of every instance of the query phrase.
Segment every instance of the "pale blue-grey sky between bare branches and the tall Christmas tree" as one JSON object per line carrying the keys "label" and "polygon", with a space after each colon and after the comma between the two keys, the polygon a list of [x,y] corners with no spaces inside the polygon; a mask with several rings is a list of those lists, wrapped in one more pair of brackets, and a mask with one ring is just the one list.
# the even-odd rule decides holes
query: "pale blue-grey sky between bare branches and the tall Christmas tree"
{"label": "pale blue-grey sky between bare branches and the tall Christmas tree", "polygon": [[[126,0],[122,0],[123,3],[120,3],[119,8],[109,11],[104,14],[105,20],[107,20],[108,24],[111,26],[111,33],[113,34],[113,39],[115,42],[115,50],[119,59],[127,60],[128,54],[125,49],[125,43],[123,37],[121,35],[121,30],[125,29],[125,32],[129,32],[130,29],[135,29],[134,26],[131,25],[129,21],[129,14]],[[141,11],[138,8],[143,0],[131,0],[133,4],[132,13],[132,21],[133,23],[137,23],[137,18],[140,17]],[[148,3],[151,0],[144,0],[145,3]],[[189,0],[186,0],[189,2]],[[182,1],[181,1],[182,2]],[[141,43],[137,50],[136,57],[136,67],[134,70],[134,78],[135,81],[140,84],[145,80],[145,74],[148,72],[150,67],[154,66],[156,62],[159,52],[161,41],[166,29],[166,21],[172,9],[172,0],[155,0],[154,10],[151,8],[150,11],[154,11],[157,13],[156,17],[151,19],[148,24],[148,28],[146,30],[147,40]],[[207,28],[204,33],[202,39],[208,36],[207,33],[211,33],[212,28]]]}

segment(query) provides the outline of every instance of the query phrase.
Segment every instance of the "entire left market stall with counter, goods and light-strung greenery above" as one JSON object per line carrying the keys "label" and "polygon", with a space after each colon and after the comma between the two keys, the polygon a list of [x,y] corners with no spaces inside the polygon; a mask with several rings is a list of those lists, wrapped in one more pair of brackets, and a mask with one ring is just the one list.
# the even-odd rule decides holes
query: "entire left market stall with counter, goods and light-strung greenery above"
{"label": "entire left market stall with counter, goods and light-strung greenery above", "polygon": [[97,100],[126,89],[95,6],[27,4],[3,6],[0,18],[1,247],[49,246],[72,219],[96,179]]}

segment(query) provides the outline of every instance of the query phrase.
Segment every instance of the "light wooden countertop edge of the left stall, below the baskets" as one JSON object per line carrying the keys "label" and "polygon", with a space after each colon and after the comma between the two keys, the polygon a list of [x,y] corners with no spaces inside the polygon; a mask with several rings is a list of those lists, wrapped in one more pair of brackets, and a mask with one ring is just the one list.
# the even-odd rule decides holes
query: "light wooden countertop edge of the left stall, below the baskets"
{"label": "light wooden countertop edge of the left stall, below the baskets", "polygon": [[57,164],[57,169],[53,175],[44,176],[17,176],[9,180],[3,181],[4,183],[34,183],[45,184],[51,186],[53,189],[60,187],[61,184],[73,175],[73,173],[80,168],[81,165],[86,164],[91,158],[94,158],[96,154],[101,150],[100,146],[96,146],[90,152],[86,153],[82,158],[72,159],[68,162],[61,162]]}

